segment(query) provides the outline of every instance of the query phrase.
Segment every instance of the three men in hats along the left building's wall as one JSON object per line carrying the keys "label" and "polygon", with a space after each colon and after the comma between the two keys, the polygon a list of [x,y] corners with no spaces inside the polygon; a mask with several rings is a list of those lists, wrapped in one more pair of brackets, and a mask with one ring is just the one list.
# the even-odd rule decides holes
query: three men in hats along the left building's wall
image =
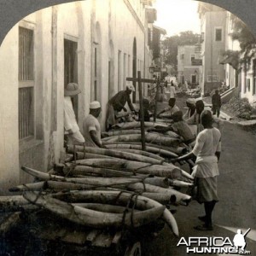
{"label": "three men in hats along the left building's wall", "polygon": [[[107,129],[117,123],[117,115],[121,110],[127,112],[125,108],[128,103],[131,112],[137,113],[131,103],[131,92],[133,85],[127,85],[126,90],[119,91],[108,102]],[[98,117],[102,112],[100,102],[90,102],[90,113],[84,118],[83,131],[79,130],[79,125],[73,110],[72,98],[79,95],[81,89],[79,84],[69,83],[64,89],[64,128],[67,132],[67,144],[84,144],[89,147],[105,148],[101,140],[101,125]]]}

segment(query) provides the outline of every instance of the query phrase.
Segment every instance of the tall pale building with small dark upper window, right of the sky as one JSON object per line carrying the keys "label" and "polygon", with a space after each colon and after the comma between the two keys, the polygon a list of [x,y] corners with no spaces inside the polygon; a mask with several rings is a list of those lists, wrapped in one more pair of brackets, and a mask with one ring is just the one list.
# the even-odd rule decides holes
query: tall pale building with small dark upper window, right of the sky
{"label": "tall pale building with small dark upper window, right of the sky", "polygon": [[201,19],[202,90],[206,95],[219,88],[225,80],[224,66],[220,64],[226,50],[227,12],[209,3],[199,3]]}

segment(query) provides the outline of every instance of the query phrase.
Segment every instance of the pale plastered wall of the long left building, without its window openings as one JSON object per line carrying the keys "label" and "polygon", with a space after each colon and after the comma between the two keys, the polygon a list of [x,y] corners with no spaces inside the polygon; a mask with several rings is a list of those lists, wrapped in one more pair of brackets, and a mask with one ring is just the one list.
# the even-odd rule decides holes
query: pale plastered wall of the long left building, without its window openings
{"label": "pale plastered wall of the long left building, without its window openings", "polygon": [[[122,76],[132,75],[133,40],[137,39],[137,70],[142,74],[151,64],[151,52],[144,52],[144,17],[142,4],[131,14],[129,1],[83,1],[61,4],[26,16],[6,36],[0,47],[0,105],[2,143],[0,143],[0,194],[17,183],[32,181],[20,171],[29,166],[46,172],[59,162],[63,150],[64,38],[78,43],[78,122],[82,130],[92,99],[92,49],[100,43],[98,100],[102,103],[101,124],[104,129],[109,99],[108,61],[113,60],[113,91],[118,91],[118,51]],[[121,11],[120,11],[121,10]],[[138,16],[136,15],[138,14]],[[141,21],[139,21],[141,19]],[[29,143],[19,141],[18,64],[19,24],[34,27],[35,136]],[[129,24],[129,26],[125,26]],[[145,57],[144,54],[149,56]],[[124,72],[124,54],[126,71]],[[144,60],[147,61],[144,67]],[[149,64],[150,63],[150,64]],[[125,87],[125,83],[122,85]],[[19,145],[20,144],[20,145]]]}

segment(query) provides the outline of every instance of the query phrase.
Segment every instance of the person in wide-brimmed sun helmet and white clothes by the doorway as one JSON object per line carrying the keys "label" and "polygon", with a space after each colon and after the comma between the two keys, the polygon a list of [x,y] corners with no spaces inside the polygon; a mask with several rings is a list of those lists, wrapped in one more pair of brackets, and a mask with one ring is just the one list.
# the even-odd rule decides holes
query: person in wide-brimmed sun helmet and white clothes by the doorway
{"label": "person in wide-brimmed sun helmet and white clothes by the doorway", "polygon": [[64,89],[64,127],[68,132],[68,144],[84,143],[84,137],[79,130],[71,102],[71,97],[78,95],[80,92],[79,84],[76,83],[69,83]]}

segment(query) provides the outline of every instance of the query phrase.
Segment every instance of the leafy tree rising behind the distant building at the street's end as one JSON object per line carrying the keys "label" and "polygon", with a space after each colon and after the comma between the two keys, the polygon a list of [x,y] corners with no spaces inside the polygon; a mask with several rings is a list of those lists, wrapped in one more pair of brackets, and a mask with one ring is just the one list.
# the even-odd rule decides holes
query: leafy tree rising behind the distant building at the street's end
{"label": "leafy tree rising behind the distant building at the street's end", "polygon": [[172,65],[177,70],[177,46],[179,45],[193,45],[198,43],[200,35],[194,34],[191,31],[180,32],[179,35],[174,35],[166,38],[162,44],[165,50],[165,62]]}

